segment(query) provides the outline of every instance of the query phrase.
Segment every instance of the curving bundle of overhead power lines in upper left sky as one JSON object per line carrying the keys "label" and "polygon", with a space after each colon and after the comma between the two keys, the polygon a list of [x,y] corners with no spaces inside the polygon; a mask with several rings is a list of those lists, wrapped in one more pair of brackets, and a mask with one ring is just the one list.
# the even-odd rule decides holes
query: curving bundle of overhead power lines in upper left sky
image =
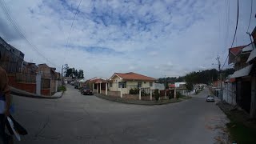
{"label": "curving bundle of overhead power lines in upper left sky", "polygon": [[18,32],[18,34],[21,36],[21,38],[25,39],[25,41],[32,47],[32,49],[34,51],[36,51],[42,58],[44,58],[47,62],[49,62],[50,64],[52,64],[53,66],[57,67],[54,63],[50,62],[50,60],[48,60],[43,54],[41,54],[38,51],[38,48],[36,46],[34,46],[27,38],[26,36],[22,33],[22,30],[19,28],[17,22],[15,21],[14,18],[11,17],[10,15],[10,10],[8,8],[8,6],[6,6],[6,3],[4,2],[4,0],[0,1],[0,5],[2,7],[3,12],[6,14],[6,18],[10,21],[10,24],[12,26],[14,26],[14,30],[16,32]]}

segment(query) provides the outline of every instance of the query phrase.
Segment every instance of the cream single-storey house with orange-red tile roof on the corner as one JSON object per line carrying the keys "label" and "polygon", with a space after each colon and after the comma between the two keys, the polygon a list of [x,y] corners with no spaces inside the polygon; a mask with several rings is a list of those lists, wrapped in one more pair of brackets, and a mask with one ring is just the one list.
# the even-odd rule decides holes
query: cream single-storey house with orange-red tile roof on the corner
{"label": "cream single-storey house with orange-red tile roof on the corner", "polygon": [[122,94],[129,94],[130,89],[150,88],[154,89],[155,78],[146,75],[130,73],[114,73],[108,80],[108,89],[110,91],[122,90]]}

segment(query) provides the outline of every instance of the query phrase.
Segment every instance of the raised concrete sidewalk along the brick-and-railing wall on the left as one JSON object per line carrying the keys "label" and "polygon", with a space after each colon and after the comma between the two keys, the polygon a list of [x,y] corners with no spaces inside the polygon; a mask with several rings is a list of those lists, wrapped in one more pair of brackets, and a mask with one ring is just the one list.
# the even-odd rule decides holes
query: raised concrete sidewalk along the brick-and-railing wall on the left
{"label": "raised concrete sidewalk along the brick-and-railing wall on the left", "polygon": [[57,92],[52,96],[45,96],[45,95],[39,95],[39,94],[33,94],[26,92],[24,90],[18,90],[14,87],[10,86],[10,94],[22,96],[22,97],[29,97],[29,98],[48,98],[48,99],[56,99],[56,98],[62,98],[63,92]]}

